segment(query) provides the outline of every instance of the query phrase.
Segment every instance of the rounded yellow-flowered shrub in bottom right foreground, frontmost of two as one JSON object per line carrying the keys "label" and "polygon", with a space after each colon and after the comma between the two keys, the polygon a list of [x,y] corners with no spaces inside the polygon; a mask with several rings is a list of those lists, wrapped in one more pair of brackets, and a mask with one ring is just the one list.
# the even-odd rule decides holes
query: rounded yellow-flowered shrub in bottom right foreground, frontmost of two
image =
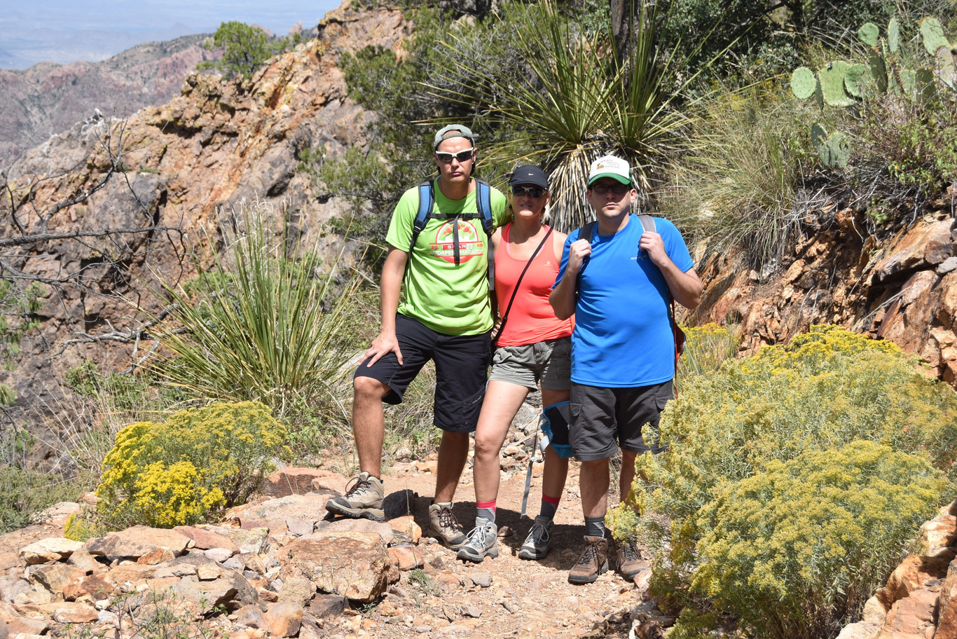
{"label": "rounded yellow-flowered shrub in bottom right foreground, frontmost of two", "polygon": [[705,508],[692,589],[748,636],[833,637],[933,517],[946,478],[924,457],[858,441],[804,452],[728,486]]}

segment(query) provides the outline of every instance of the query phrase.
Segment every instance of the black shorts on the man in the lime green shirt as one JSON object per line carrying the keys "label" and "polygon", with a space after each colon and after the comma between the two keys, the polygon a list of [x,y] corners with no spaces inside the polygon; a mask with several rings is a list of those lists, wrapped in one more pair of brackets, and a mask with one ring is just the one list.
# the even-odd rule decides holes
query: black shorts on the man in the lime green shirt
{"label": "black shorts on the man in the lime green shirt", "polygon": [[435,363],[434,425],[449,432],[474,432],[485,398],[492,331],[480,335],[444,335],[418,320],[395,316],[395,337],[402,351],[375,364],[359,364],[355,377],[371,377],[389,386],[387,404],[400,404],[406,388],[429,360]]}

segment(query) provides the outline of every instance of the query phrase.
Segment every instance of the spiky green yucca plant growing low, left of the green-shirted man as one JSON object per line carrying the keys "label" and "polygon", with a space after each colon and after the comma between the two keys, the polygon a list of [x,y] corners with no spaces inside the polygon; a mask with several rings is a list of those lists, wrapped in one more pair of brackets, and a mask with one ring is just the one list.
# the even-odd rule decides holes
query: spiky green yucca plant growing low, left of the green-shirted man
{"label": "spiky green yucca plant growing low, left of the green-shirted man", "polygon": [[163,284],[169,318],[157,337],[169,355],[154,364],[158,379],[196,398],[261,402],[279,418],[345,421],[335,386],[353,354],[343,306],[358,278],[337,288],[337,263],[321,268],[316,247],[278,230],[265,203],[236,219],[232,230],[220,219],[226,249],[199,284]]}

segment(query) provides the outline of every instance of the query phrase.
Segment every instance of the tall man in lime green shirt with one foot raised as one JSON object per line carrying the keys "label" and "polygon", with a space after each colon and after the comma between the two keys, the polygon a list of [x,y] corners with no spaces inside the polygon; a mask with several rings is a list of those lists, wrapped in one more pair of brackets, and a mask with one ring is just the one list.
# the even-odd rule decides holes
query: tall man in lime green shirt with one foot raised
{"label": "tall man in lime green shirt with one foot raised", "polygon": [[[385,518],[382,499],[383,402],[399,404],[406,388],[429,360],[435,363],[434,425],[438,447],[435,499],[429,533],[456,548],[464,543],[452,513],[458,478],[465,468],[469,433],[476,429],[485,395],[492,330],[488,295],[489,237],[477,215],[475,135],[453,124],[434,137],[433,215],[418,234],[412,228],[419,190],[410,188],[392,213],[382,269],[382,329],[366,351],[353,379],[352,431],[360,474],[345,496],[326,509],[349,518]],[[491,189],[495,226],[505,222],[505,196]],[[405,299],[399,303],[399,293]]]}

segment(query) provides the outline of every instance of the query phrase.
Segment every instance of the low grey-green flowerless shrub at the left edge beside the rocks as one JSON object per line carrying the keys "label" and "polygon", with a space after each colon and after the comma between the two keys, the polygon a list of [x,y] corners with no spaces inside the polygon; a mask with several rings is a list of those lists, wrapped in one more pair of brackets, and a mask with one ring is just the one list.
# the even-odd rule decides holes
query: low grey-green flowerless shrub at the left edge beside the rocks
{"label": "low grey-green flowerless shrub at the left edge beside the rocks", "polygon": [[0,464],[0,535],[29,524],[58,501],[73,501],[82,489],[56,474]]}

